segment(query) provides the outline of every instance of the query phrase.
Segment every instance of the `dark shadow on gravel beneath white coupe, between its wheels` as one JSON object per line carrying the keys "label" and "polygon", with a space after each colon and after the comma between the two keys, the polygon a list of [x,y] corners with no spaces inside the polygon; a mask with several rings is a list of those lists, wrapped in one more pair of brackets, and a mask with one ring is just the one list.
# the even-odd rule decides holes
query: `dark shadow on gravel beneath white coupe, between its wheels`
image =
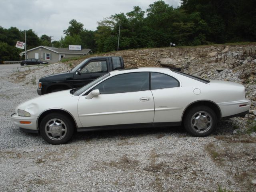
{"label": "dark shadow on gravel beneath white coupe, between its wheels", "polygon": [[92,140],[92,139],[109,139],[119,137],[125,139],[129,137],[152,136],[162,137],[164,135],[180,134],[181,137],[188,136],[182,126],[161,127],[161,128],[137,128],[137,129],[118,129],[118,130],[100,130],[90,132],[77,132],[73,136],[74,140]]}

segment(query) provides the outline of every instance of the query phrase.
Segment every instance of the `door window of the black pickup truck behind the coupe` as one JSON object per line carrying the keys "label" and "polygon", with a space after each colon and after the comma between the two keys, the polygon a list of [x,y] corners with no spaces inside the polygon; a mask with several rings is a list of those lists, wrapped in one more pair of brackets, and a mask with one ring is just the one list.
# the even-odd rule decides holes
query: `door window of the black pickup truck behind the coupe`
{"label": "door window of the black pickup truck behind the coupe", "polygon": [[92,61],[81,69],[81,73],[103,73],[108,72],[107,62],[104,61]]}

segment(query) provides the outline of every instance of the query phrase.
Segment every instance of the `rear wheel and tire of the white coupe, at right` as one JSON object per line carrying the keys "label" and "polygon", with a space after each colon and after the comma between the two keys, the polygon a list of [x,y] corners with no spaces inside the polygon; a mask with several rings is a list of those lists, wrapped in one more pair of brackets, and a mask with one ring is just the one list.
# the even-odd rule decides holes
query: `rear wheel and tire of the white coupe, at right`
{"label": "rear wheel and tire of the white coupe, at right", "polygon": [[217,116],[208,106],[196,106],[188,111],[183,123],[189,134],[196,137],[204,137],[214,131],[217,124]]}

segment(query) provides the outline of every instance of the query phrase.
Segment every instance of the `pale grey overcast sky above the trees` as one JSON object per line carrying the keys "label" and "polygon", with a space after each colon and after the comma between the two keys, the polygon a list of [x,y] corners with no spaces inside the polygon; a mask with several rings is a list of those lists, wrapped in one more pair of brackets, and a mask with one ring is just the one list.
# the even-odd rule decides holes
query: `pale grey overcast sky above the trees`
{"label": "pale grey overcast sky above the trees", "polygon": [[[60,40],[63,30],[75,19],[87,30],[96,30],[97,21],[116,13],[127,13],[134,6],[146,11],[157,0],[0,0],[0,26],[32,29]],[[164,0],[170,6],[180,6],[180,0]]]}

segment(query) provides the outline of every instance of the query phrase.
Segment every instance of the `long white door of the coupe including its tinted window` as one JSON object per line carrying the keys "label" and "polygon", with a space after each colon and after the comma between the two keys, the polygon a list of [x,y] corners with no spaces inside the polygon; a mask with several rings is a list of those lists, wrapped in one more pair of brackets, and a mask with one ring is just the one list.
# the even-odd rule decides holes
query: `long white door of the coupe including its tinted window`
{"label": "long white door of the coupe including its tinted window", "polygon": [[119,74],[95,86],[100,95],[80,96],[78,116],[84,127],[152,123],[154,99],[149,73]]}

